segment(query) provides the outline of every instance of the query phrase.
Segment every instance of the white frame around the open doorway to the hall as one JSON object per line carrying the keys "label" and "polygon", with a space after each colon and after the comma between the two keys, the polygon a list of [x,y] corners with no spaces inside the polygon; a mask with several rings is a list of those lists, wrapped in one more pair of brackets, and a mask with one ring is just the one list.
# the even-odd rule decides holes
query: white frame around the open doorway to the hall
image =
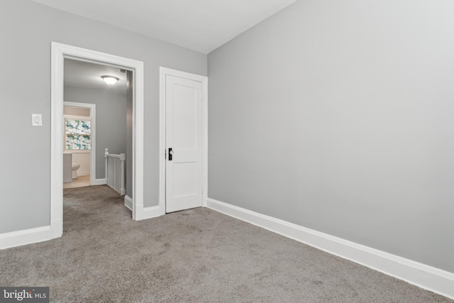
{"label": "white frame around the open doorway to the hall", "polygon": [[143,62],[51,43],[50,96],[50,238],[63,233],[63,77],[65,57],[74,60],[101,62],[132,70],[135,81],[133,102],[133,219],[143,219]]}

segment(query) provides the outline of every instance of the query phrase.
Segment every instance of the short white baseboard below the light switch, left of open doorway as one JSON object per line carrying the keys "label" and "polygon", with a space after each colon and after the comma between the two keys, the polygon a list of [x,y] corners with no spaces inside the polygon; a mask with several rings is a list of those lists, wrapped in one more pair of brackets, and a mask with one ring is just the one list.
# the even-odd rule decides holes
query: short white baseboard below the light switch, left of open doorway
{"label": "short white baseboard below the light switch, left of open doorway", "polygon": [[55,236],[52,236],[50,226],[0,233],[0,249],[48,241],[52,238]]}

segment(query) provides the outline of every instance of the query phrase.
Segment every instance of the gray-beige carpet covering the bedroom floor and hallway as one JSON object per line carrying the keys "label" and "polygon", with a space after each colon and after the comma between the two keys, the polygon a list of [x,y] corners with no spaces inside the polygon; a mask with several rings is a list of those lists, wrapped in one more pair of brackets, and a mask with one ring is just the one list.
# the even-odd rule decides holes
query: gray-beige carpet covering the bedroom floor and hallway
{"label": "gray-beige carpet covering the bedroom floor and hallway", "polygon": [[1,286],[51,302],[453,302],[211,209],[133,221],[106,186],[65,189],[62,238],[0,250]]}

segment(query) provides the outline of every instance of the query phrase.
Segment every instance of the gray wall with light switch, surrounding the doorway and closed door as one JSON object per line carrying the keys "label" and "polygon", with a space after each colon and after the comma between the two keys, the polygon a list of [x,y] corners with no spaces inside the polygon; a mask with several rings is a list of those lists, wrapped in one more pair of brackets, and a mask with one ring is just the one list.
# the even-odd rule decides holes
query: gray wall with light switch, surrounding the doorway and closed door
{"label": "gray wall with light switch, surrounding the doorway and closed door", "polygon": [[[206,75],[206,55],[29,0],[0,1],[0,233],[50,224],[50,43],[140,60],[145,65],[144,206],[158,204],[159,67]],[[24,85],[23,76],[27,75]],[[31,126],[31,114],[43,126]],[[28,180],[27,184],[18,180]]]}

